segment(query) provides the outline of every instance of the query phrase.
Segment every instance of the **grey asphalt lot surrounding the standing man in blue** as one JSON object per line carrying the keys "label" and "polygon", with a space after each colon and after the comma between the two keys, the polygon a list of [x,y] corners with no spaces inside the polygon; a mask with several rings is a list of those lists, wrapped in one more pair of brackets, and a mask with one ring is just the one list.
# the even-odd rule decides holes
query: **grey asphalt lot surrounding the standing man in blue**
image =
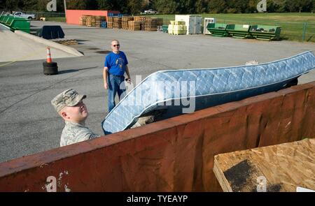
{"label": "grey asphalt lot surrounding the standing man in blue", "polygon": [[[51,76],[43,75],[43,60],[0,63],[0,162],[59,147],[64,122],[50,101],[65,89],[87,94],[85,103],[90,117],[86,124],[103,135],[101,122],[107,114],[107,91],[103,87],[102,71],[112,39],[118,39],[120,49],[127,54],[134,83],[135,75],[144,79],[160,70],[238,66],[251,60],[264,63],[315,51],[315,43],[172,36],[152,31],[31,22],[33,28],[43,24],[61,25],[66,39],[76,39],[79,43],[71,47],[85,56],[54,59],[52,53],[59,74]],[[314,80],[315,71],[312,71],[299,78],[299,84]]]}

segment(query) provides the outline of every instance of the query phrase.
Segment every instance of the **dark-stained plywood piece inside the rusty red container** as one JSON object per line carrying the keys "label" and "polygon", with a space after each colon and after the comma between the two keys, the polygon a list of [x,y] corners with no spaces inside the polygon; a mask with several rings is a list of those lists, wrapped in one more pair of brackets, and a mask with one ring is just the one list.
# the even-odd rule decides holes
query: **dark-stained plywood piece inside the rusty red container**
{"label": "dark-stained plywood piece inside the rusty red container", "polygon": [[214,173],[223,191],[315,190],[315,139],[218,154]]}

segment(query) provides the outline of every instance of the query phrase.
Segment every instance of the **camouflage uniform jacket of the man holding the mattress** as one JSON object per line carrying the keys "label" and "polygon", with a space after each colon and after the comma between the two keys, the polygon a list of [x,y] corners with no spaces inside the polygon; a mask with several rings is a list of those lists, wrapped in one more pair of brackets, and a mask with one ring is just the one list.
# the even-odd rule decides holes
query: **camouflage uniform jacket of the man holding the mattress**
{"label": "camouflage uniform jacket of the man holding the mattress", "polygon": [[84,124],[68,121],[65,121],[65,123],[66,126],[64,126],[60,138],[60,147],[99,137],[99,135],[94,134],[90,128],[87,128]]}

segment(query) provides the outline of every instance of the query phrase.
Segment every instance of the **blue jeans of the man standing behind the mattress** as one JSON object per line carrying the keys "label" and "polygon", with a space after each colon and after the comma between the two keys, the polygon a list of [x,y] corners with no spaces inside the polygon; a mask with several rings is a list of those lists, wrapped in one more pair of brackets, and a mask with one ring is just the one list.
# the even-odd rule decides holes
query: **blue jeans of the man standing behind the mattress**
{"label": "blue jeans of the man standing behind the mattress", "polygon": [[119,101],[125,95],[125,77],[109,74],[107,80],[109,84],[109,112],[111,112],[111,110],[113,110],[116,106],[116,93],[118,93]]}

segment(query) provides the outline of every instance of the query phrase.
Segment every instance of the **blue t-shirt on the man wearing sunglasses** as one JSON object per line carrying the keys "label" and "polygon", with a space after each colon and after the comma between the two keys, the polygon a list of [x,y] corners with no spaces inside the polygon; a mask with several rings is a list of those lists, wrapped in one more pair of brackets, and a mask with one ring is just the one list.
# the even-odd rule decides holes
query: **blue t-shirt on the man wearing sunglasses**
{"label": "blue t-shirt on the man wearing sunglasses", "polygon": [[105,58],[104,66],[109,68],[109,73],[112,75],[123,76],[127,64],[128,61],[125,53],[120,51],[118,54],[114,52],[109,53]]}

